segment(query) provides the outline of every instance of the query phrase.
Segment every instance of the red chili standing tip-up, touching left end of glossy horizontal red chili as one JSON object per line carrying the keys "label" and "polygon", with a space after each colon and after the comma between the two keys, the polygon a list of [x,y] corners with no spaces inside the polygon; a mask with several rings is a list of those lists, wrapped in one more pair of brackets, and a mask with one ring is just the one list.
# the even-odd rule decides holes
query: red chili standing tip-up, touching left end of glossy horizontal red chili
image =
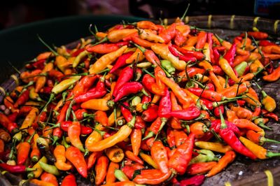
{"label": "red chili standing tip-up, touching left end of glossy horizontal red chili", "polygon": [[160,99],[160,106],[158,107],[158,116],[170,117],[169,113],[172,111],[172,103],[168,88],[165,88],[165,95]]}

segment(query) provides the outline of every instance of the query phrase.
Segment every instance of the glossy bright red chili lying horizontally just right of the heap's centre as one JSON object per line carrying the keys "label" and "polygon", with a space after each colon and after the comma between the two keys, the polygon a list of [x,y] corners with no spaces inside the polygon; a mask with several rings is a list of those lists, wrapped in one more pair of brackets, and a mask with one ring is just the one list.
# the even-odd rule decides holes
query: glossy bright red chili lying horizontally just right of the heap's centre
{"label": "glossy bright red chili lying horizontally just right of the heap's centre", "polygon": [[183,110],[174,110],[169,113],[169,116],[177,117],[180,120],[193,120],[200,116],[200,109],[196,106],[190,106]]}

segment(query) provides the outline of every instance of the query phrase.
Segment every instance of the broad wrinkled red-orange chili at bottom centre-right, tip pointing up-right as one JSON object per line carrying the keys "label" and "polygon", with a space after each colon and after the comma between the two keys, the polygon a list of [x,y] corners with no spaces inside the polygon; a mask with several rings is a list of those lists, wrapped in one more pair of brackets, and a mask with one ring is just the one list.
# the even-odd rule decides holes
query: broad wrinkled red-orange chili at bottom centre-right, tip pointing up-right
{"label": "broad wrinkled red-orange chili at bottom centre-right, tip pointing up-right", "polygon": [[193,145],[195,143],[195,134],[190,134],[188,140],[179,145],[179,147],[174,152],[174,155],[170,157],[168,161],[168,166],[170,169],[174,169],[176,173],[183,175],[186,173],[188,164],[193,155]]}

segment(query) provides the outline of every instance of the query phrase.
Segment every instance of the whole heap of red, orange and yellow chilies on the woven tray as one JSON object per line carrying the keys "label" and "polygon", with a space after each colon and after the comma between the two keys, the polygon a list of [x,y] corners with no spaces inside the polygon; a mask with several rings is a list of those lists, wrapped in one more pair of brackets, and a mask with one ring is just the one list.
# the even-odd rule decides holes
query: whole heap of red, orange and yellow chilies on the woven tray
{"label": "whole heap of red, orange and yellow chilies on the woven tray", "polygon": [[266,33],[230,43],[178,18],[92,34],[74,49],[40,38],[50,52],[0,106],[1,170],[36,185],[76,185],[75,173],[95,185],[201,185],[237,155],[280,155],[262,148],[279,143],[265,138],[276,102],[256,82],[280,78]]}

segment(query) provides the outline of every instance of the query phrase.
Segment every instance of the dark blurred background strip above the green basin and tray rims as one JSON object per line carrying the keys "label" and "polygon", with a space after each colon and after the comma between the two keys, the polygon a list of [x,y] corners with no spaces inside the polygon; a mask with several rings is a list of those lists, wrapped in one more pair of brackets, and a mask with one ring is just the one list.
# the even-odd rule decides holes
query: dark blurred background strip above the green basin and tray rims
{"label": "dark blurred background strip above the green basin and tray rims", "polygon": [[2,1],[0,30],[69,15],[132,15],[145,18],[188,15],[247,15],[280,18],[280,0],[13,0]]}

